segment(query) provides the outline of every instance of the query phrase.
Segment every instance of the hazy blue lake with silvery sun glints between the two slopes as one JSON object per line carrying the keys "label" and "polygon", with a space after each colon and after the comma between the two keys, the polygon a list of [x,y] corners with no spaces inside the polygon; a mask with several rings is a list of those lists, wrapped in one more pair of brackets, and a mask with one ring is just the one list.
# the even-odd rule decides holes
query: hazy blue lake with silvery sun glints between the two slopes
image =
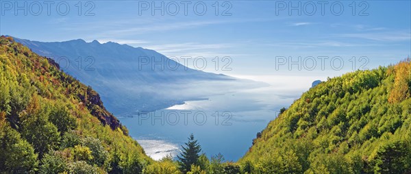
{"label": "hazy blue lake with silvery sun glints between the two slopes", "polygon": [[301,95],[296,91],[301,89],[269,86],[242,90],[119,119],[154,160],[177,156],[192,133],[209,158],[221,153],[225,160],[236,161],[251,147],[256,134],[275,119],[278,110]]}

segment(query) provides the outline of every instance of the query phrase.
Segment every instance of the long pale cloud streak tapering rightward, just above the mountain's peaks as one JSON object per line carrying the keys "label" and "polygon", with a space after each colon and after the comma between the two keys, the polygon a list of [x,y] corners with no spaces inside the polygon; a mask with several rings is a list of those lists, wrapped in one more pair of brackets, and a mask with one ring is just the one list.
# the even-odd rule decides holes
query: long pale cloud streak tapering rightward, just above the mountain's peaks
{"label": "long pale cloud streak tapering rightward, just above the mountain's peaks", "polygon": [[[226,25],[230,23],[262,23],[277,21],[279,18],[236,18],[203,21],[175,21],[173,18],[124,18],[118,21],[92,21],[90,23],[74,22],[60,26],[65,31],[91,32],[92,38],[121,38],[139,34],[170,32],[177,30],[195,29],[210,25]],[[96,32],[97,31],[97,32]]]}

